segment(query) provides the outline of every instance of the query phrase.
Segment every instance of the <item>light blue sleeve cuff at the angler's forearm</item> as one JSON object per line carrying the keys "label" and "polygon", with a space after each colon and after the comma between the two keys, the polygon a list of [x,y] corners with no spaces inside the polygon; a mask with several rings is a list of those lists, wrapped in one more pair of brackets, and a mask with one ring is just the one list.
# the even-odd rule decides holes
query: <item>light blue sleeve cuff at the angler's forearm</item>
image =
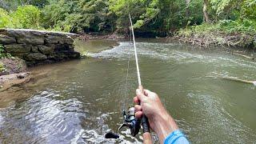
{"label": "light blue sleeve cuff at the angler's forearm", "polygon": [[189,144],[181,130],[174,130],[165,140],[164,144]]}

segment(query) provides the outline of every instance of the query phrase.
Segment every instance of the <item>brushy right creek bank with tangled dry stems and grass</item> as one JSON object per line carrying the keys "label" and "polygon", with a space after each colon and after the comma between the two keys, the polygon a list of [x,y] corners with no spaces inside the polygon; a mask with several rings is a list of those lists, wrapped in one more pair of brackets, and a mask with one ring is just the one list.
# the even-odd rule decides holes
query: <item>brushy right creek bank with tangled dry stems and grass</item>
{"label": "brushy right creek bank with tangled dry stems and grass", "polygon": [[231,27],[222,24],[189,26],[178,30],[171,38],[202,47],[228,46],[256,50],[256,31],[251,27],[249,30],[247,27],[242,29],[241,26]]}

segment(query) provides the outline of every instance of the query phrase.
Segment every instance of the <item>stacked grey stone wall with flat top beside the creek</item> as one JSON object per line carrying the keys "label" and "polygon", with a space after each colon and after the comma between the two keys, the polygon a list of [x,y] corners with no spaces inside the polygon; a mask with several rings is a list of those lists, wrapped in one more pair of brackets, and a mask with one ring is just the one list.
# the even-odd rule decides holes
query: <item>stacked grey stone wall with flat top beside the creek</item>
{"label": "stacked grey stone wall with flat top beside the creek", "polygon": [[34,66],[80,58],[74,51],[73,38],[77,36],[42,30],[0,29],[0,44],[6,52]]}

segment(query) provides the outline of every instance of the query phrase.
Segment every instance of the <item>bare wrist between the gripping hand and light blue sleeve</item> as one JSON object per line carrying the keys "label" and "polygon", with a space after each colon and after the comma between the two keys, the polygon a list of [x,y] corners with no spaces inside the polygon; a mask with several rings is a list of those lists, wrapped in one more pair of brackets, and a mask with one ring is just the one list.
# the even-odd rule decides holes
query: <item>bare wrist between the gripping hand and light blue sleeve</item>
{"label": "bare wrist between the gripping hand and light blue sleeve", "polygon": [[155,133],[158,134],[160,142],[164,142],[165,138],[172,133],[174,130],[178,130],[174,118],[171,118],[170,114],[164,110],[163,113],[157,114],[158,116],[154,117],[154,126],[156,128]]}

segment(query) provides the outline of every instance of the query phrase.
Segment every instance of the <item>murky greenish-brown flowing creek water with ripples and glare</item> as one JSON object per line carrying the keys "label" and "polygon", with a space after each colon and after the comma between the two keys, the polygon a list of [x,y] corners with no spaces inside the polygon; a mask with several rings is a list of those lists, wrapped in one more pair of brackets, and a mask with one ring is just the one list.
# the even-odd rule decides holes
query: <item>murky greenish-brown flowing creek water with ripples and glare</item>
{"label": "murky greenish-brown flowing creek water with ripples and glare", "polygon": [[[141,134],[133,138],[129,130],[122,130],[118,140],[104,138],[122,123],[122,109],[133,105],[138,85],[133,46],[108,47],[113,43],[78,42],[91,58],[31,68],[46,76],[10,90],[17,98],[7,106],[0,102],[0,142],[142,142]],[[256,143],[256,86],[222,79],[256,80],[254,61],[222,48],[200,50],[156,40],[137,45],[142,85],[159,94],[191,142]]]}

